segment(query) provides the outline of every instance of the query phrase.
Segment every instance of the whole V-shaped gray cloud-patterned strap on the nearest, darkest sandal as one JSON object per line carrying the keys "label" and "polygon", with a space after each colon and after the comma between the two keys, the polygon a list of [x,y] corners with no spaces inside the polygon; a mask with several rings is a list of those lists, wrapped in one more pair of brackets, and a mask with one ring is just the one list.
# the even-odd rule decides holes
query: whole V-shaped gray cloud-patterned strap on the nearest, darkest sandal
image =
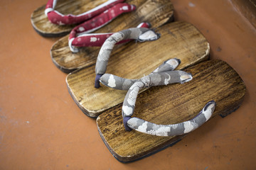
{"label": "whole V-shaped gray cloud-patterned strap on the nearest, darkest sandal", "polygon": [[[124,98],[122,106],[123,123],[124,128],[127,131],[137,130],[139,132],[157,136],[183,135],[203,125],[203,123],[206,123],[206,121],[211,117],[215,110],[215,101],[209,101],[206,103],[206,106],[204,106],[203,110],[198,113],[195,118],[174,125],[156,125],[155,123],[150,123],[146,120],[132,118],[137,95],[140,89],[149,86],[160,86],[172,83],[183,84],[184,82],[191,81],[191,74],[180,70],[173,71],[173,69],[168,67],[166,64],[167,62],[175,63],[174,61],[175,60],[167,60],[148,76],[142,77],[142,79],[139,80],[132,80],[135,82],[133,82],[132,86],[130,86],[127,91],[127,95]],[[176,67],[177,66],[178,65],[176,65]],[[171,69],[171,71],[168,71],[168,69]]]}

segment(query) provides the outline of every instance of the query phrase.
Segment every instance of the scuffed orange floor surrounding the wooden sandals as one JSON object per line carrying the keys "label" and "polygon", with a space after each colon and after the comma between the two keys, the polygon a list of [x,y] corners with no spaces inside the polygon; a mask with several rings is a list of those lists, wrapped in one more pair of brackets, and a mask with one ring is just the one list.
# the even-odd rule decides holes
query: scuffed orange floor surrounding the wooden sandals
{"label": "scuffed orange floor surrounding the wooden sandals", "polygon": [[2,0],[0,169],[256,169],[256,29],[228,0],[172,2],[176,20],[206,36],[210,57],[228,62],[245,81],[238,111],[216,116],[173,147],[122,164],[51,61],[58,38],[43,38],[31,26],[31,13],[46,0]]}

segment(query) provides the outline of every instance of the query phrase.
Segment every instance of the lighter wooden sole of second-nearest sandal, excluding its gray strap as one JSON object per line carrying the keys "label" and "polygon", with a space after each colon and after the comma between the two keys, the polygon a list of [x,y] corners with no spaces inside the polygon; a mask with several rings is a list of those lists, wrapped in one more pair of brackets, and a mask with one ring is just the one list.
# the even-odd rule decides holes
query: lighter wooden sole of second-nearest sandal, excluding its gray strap
{"label": "lighter wooden sole of second-nearest sandal, excluding its gray strap", "polygon": [[[210,47],[206,38],[190,23],[169,23],[156,29],[161,38],[151,42],[129,42],[112,51],[107,73],[137,79],[149,74],[170,58],[178,58],[184,69],[208,60]],[[83,113],[97,117],[103,111],[122,103],[126,91],[101,86],[95,89],[95,65],[68,74],[68,91]]]}

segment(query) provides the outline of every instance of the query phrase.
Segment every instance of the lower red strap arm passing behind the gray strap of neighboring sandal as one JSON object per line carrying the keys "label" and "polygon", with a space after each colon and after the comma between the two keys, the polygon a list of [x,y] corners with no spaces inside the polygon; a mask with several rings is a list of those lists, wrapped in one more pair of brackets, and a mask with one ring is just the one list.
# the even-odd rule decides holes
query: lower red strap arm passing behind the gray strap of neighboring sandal
{"label": "lower red strap arm passing behind the gray strap of neighboring sandal", "polygon": [[[140,23],[137,28],[150,28],[149,23]],[[68,45],[72,52],[78,52],[78,48],[76,47],[101,47],[105,40],[110,37],[114,33],[95,33],[88,34],[82,33],[78,35],[76,38],[71,38],[68,41]],[[120,43],[128,42],[129,40],[122,40]]]}

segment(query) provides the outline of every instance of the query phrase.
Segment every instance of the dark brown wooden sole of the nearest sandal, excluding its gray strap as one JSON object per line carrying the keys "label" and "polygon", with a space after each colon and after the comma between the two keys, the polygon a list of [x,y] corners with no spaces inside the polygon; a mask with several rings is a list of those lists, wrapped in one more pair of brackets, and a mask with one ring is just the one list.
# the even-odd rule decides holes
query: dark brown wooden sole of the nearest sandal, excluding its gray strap
{"label": "dark brown wooden sole of the nearest sandal, excluding its gray strap", "polygon": [[[192,81],[156,86],[139,94],[133,116],[167,125],[190,120],[211,100],[217,103],[213,116],[228,115],[242,103],[245,84],[237,72],[225,62],[210,60],[185,71],[193,74]],[[121,113],[122,104],[119,104],[97,118],[102,140],[120,162],[131,162],[145,157],[184,136],[156,137],[135,130],[126,132]]]}

